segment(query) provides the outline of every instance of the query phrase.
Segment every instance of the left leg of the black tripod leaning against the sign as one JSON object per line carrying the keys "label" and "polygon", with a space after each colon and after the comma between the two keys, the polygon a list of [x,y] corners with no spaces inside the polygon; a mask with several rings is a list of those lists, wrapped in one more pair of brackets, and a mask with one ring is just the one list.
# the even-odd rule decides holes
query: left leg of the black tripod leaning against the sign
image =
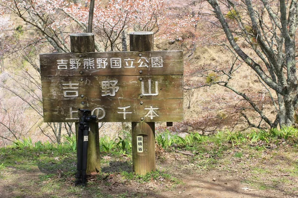
{"label": "left leg of the black tripod leaning against the sign", "polygon": [[77,133],[77,145],[76,145],[76,158],[77,158],[77,173],[75,175],[75,186],[81,184],[81,170],[82,170],[82,146],[83,146],[83,129],[81,126],[78,127]]}

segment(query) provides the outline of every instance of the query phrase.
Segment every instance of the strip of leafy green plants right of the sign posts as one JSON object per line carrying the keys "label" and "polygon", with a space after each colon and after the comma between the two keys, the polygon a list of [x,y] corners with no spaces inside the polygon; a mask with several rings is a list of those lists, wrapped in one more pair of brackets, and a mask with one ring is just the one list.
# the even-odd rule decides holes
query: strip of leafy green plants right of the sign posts
{"label": "strip of leafy green plants right of the sign posts", "polygon": [[[271,143],[287,141],[290,144],[298,144],[298,129],[293,127],[284,127],[282,130],[271,129],[269,131],[251,131],[251,132],[231,132],[220,131],[212,136],[203,136],[199,133],[190,133],[185,137],[171,134],[168,130],[159,132],[155,136],[157,144],[164,149],[171,147],[187,148],[190,150],[202,149],[200,145],[215,144],[217,149],[226,149],[228,145],[240,146],[246,143],[256,144],[256,149],[267,149]],[[262,144],[259,144],[262,143]],[[226,147],[226,148],[224,148]],[[219,151],[220,153],[220,151]]]}

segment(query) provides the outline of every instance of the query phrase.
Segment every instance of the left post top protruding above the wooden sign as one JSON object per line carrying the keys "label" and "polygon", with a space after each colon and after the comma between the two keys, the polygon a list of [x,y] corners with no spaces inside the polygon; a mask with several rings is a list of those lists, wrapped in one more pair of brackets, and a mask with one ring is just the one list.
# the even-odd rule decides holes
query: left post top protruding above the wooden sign
{"label": "left post top protruding above the wooden sign", "polygon": [[76,34],[71,34],[70,37],[71,37],[72,52],[95,51],[93,33],[76,33]]}

